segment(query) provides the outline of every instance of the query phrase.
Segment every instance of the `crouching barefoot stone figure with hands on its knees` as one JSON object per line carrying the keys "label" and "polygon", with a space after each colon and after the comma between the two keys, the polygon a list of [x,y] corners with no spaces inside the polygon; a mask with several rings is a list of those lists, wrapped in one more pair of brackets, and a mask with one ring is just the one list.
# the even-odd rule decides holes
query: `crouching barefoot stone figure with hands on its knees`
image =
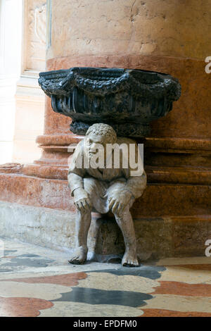
{"label": "crouching barefoot stone figure with hands on its knees", "polygon": [[[132,164],[131,159],[135,160]],[[132,139],[117,138],[110,125],[97,123],[77,144],[68,172],[68,184],[77,207],[76,247],[70,263],[87,259],[91,211],[112,211],[122,230],[125,253],[122,266],[139,266],[134,223],[129,209],[146,188],[146,173]]]}

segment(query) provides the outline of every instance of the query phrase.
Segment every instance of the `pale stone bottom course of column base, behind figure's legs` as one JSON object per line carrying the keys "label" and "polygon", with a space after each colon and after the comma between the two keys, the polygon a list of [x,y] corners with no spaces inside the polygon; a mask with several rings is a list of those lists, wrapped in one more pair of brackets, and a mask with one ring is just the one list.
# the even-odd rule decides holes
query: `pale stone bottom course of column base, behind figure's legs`
{"label": "pale stone bottom course of column base, behind figure's legs", "polygon": [[[141,261],[204,256],[211,237],[211,216],[134,218],[137,253]],[[75,246],[75,213],[55,208],[0,201],[1,237],[70,251]],[[89,255],[96,261],[122,258],[124,239],[113,218],[92,217]]]}

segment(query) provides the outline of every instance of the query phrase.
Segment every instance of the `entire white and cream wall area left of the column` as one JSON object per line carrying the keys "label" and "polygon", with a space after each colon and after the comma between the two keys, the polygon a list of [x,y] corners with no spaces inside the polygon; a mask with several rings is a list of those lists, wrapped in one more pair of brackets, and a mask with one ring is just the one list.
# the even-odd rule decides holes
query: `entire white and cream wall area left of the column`
{"label": "entire white and cream wall area left of the column", "polygon": [[0,0],[0,164],[31,163],[44,130],[46,1]]}

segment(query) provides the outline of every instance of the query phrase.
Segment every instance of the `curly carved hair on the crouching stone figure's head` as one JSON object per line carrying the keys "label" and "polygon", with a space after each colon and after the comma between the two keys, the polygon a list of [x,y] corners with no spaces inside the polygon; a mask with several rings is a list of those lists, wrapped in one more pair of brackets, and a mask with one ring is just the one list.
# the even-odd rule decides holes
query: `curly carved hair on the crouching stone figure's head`
{"label": "curly carved hair on the crouching stone figure's head", "polygon": [[113,127],[104,123],[95,123],[91,125],[87,130],[86,136],[90,134],[103,136],[106,138],[106,141],[112,143],[117,140],[117,134],[115,130],[113,130]]}

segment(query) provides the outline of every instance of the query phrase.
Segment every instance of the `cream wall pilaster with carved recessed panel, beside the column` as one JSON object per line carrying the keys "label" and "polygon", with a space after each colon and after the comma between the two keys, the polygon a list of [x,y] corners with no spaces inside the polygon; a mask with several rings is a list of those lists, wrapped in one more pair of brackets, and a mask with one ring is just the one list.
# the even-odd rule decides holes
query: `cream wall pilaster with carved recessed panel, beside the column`
{"label": "cream wall pilaster with carved recessed panel, beside the column", "polygon": [[23,1],[22,68],[16,90],[13,161],[32,163],[41,156],[36,144],[44,131],[44,92],[39,72],[46,66],[46,1]]}

